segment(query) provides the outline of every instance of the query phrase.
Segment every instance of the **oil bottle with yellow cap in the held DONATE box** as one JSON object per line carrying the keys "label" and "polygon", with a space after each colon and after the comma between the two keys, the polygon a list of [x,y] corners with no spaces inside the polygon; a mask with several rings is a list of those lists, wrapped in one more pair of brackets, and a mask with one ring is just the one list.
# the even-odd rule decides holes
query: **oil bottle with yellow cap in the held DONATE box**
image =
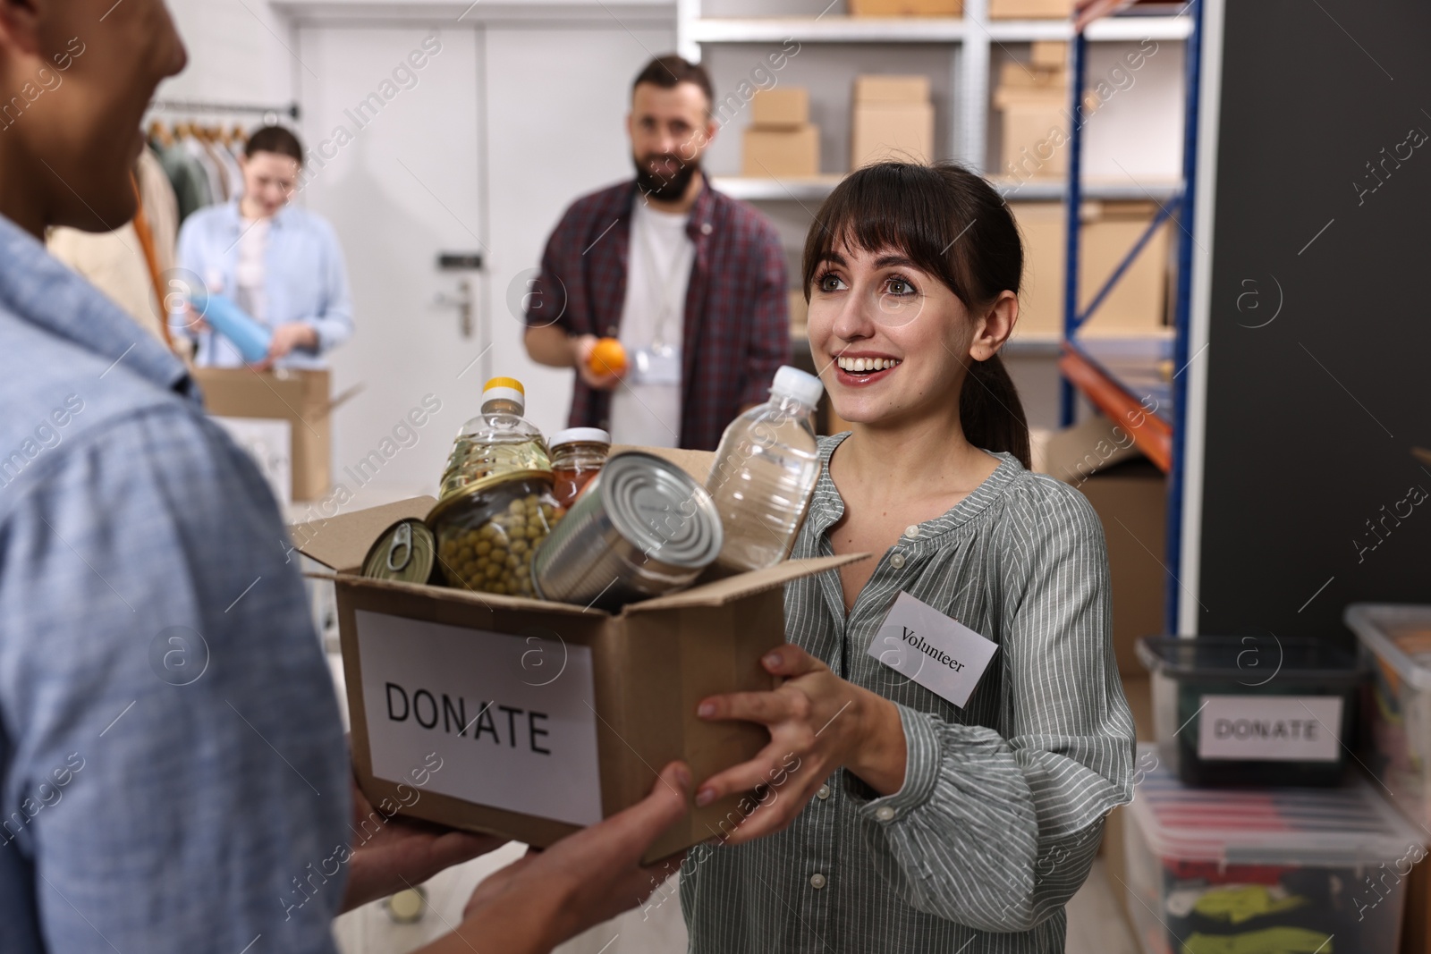
{"label": "oil bottle with yellow cap in the held DONATE box", "polygon": [[452,442],[452,456],[442,472],[438,499],[472,481],[505,471],[550,471],[547,442],[537,425],[522,416],[527,392],[515,378],[492,378],[482,388],[482,412],[462,425]]}

